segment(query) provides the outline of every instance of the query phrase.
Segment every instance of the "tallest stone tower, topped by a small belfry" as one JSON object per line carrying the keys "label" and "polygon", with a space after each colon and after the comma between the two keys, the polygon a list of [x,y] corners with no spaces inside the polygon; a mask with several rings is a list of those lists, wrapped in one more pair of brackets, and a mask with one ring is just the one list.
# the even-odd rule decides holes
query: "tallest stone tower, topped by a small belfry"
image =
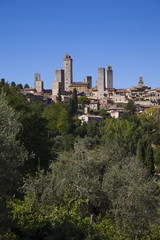
{"label": "tallest stone tower, topped by a small belfry", "polygon": [[66,53],[63,58],[63,69],[64,69],[64,89],[69,91],[69,86],[72,83],[72,58]]}

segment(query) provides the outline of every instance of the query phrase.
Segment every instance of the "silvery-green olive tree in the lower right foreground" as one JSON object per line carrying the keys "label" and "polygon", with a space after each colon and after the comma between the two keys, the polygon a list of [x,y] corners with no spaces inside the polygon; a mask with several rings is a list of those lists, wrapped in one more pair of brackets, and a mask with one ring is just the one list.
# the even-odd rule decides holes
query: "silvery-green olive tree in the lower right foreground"
{"label": "silvery-green olive tree in the lower right foreground", "polygon": [[133,239],[159,221],[158,185],[135,158],[123,159],[107,171],[103,187],[114,222],[130,232]]}

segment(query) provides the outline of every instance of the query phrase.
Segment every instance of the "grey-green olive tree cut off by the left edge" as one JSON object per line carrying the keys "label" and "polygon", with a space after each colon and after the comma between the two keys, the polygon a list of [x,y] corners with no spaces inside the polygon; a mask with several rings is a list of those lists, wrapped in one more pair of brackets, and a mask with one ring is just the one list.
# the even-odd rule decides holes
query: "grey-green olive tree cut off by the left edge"
{"label": "grey-green olive tree cut off by the left edge", "polygon": [[28,154],[17,136],[22,128],[20,116],[0,94],[0,196],[13,195],[21,182],[20,167]]}

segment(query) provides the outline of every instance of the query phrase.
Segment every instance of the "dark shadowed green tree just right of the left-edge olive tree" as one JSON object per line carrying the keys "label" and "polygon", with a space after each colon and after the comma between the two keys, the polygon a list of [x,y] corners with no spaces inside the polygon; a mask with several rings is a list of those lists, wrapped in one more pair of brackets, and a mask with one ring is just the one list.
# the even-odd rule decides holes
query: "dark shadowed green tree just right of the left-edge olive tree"
{"label": "dark shadowed green tree just right of the left-edge olive tree", "polygon": [[25,162],[25,173],[34,174],[37,169],[47,169],[51,160],[47,120],[39,105],[33,103],[22,115],[23,130],[20,139],[32,156]]}

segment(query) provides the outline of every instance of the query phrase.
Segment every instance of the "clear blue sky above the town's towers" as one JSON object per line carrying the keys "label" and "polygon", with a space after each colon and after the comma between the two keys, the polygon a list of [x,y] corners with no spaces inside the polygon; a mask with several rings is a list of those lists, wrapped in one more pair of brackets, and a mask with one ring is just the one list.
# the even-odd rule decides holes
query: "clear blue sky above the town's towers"
{"label": "clear blue sky above the town's towers", "polygon": [[51,88],[66,52],[75,82],[111,65],[115,88],[160,87],[160,0],[0,0],[0,78]]}

